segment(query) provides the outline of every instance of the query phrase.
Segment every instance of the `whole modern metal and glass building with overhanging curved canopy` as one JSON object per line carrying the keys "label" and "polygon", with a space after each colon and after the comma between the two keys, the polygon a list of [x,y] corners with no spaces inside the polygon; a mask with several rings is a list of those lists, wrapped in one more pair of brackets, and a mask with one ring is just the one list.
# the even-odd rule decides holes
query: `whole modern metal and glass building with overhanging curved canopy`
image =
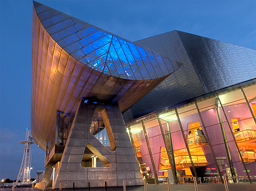
{"label": "whole modern metal and glass building with overhanging curved canopy", "polygon": [[33,4],[31,131],[48,186],[255,181],[255,50],[181,31],[132,42]]}

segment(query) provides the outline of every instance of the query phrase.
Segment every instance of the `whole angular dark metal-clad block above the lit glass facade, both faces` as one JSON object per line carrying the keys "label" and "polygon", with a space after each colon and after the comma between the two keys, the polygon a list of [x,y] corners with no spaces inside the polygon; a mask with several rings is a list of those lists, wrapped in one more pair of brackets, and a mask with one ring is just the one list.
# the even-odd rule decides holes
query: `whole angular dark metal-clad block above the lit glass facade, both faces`
{"label": "whole angular dark metal-clad block above the lit glass facade, both faces", "polygon": [[256,77],[256,50],[247,47],[181,31],[159,34],[136,44],[183,65],[124,112],[126,121]]}

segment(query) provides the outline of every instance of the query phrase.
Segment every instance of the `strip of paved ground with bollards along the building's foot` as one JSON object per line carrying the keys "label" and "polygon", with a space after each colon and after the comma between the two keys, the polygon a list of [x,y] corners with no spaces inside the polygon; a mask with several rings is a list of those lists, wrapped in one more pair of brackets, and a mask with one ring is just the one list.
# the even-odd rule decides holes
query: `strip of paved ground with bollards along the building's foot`
{"label": "strip of paved ground with bollards along the building's foot", "polygon": [[[256,191],[256,183],[228,184],[229,191]],[[1,188],[1,191],[11,191],[11,188]],[[57,191],[59,189],[47,188],[46,191]],[[171,191],[195,190],[194,184],[171,185]],[[198,191],[225,191],[224,184],[198,184]],[[31,191],[31,188],[15,188],[15,191]],[[34,191],[41,191],[34,189]],[[73,189],[62,189],[62,191],[73,191]],[[88,191],[88,188],[75,188],[75,191]],[[91,188],[90,191],[105,191],[105,188]],[[107,191],[123,191],[123,187],[108,187]],[[126,191],[145,191],[144,186],[126,187]],[[168,191],[166,184],[147,184],[147,191]]]}

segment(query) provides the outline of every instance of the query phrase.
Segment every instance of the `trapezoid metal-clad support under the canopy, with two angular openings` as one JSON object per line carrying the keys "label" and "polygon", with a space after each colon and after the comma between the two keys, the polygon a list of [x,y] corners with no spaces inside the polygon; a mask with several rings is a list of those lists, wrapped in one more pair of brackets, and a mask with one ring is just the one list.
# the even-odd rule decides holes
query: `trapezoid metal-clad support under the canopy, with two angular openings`
{"label": "trapezoid metal-clad support under the canopy, with two angular openings", "polygon": [[[93,118],[101,114],[104,127],[108,134],[111,151],[105,147],[91,132]],[[82,158],[91,158],[85,149],[93,153],[93,168],[82,168]],[[97,168],[96,157],[105,165]],[[67,144],[64,148],[59,168],[56,172],[52,188],[84,188],[90,182],[91,187],[109,187],[143,184],[132,144],[130,142],[121,111],[116,104],[105,104],[93,98],[82,98],[76,111]]]}

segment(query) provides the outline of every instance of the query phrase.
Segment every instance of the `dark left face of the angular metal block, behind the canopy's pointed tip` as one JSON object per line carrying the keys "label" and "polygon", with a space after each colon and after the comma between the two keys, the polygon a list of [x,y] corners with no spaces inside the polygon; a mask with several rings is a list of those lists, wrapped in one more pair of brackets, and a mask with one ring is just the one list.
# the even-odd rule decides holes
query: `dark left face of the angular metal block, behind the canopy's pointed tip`
{"label": "dark left face of the angular metal block, behind the canopy's pointed tip", "polygon": [[133,120],[136,117],[205,93],[177,31],[159,34],[135,43],[160,52],[172,60],[181,62],[182,66],[128,111],[124,112],[125,121]]}

